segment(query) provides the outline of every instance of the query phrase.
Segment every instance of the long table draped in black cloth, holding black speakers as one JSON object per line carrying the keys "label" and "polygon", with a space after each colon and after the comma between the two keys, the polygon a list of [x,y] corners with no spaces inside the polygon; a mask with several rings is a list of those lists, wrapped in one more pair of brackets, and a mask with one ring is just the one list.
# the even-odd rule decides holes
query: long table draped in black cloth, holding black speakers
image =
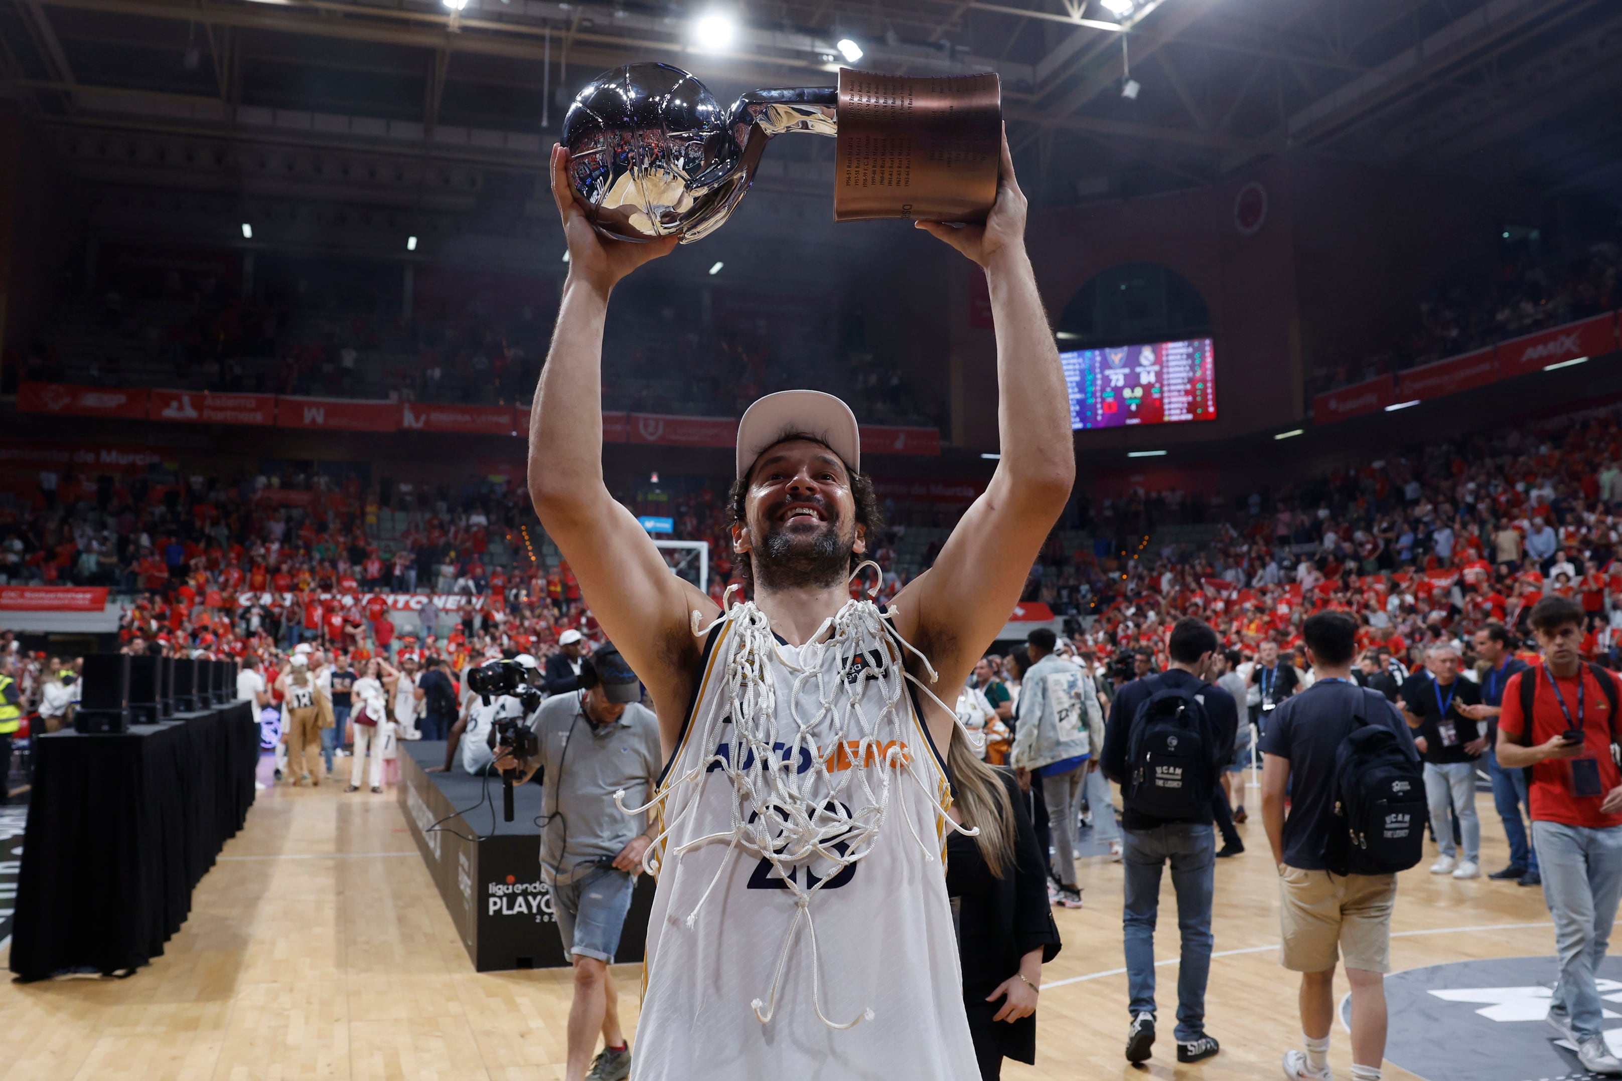
{"label": "long table draped in black cloth, holding black speakers", "polygon": [[247,702],[120,736],[36,739],[11,971],[110,974],[162,956],[248,817],[258,762]]}

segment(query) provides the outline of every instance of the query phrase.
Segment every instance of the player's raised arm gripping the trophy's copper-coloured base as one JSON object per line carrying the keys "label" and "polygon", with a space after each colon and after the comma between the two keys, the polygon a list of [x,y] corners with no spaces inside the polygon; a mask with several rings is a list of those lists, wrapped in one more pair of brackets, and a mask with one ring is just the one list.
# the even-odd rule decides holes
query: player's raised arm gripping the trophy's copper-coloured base
{"label": "player's raised arm gripping the trophy's copper-coloured base", "polygon": [[895,598],[899,630],[916,635],[955,686],[996,637],[1025,587],[1075,483],[1069,392],[1036,274],[1025,253],[1025,196],[1002,139],[998,203],[983,227],[918,222],[986,274],[998,334],[998,434],[1002,459],[952,530],[934,567]]}

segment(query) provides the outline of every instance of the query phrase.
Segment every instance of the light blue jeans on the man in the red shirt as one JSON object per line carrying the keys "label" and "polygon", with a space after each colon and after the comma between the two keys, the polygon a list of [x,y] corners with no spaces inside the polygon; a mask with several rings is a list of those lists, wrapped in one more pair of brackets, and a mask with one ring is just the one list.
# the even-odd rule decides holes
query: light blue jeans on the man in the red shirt
{"label": "light blue jeans on the man in the red shirt", "polygon": [[1622,827],[1533,822],[1531,840],[1543,856],[1543,899],[1560,958],[1549,1016],[1570,1019],[1577,1037],[1586,1039],[1599,1032],[1603,1016],[1594,972],[1606,959],[1622,896]]}

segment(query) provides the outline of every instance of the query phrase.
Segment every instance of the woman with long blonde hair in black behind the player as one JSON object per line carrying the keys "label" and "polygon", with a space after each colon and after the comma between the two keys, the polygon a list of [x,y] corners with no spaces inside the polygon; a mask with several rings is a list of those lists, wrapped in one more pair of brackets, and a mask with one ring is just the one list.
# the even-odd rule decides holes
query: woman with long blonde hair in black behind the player
{"label": "woman with long blonde hair in black behind the player", "polygon": [[960,726],[946,765],[954,822],[978,836],[947,835],[946,893],[957,924],[963,1008],[981,1081],[1002,1076],[1002,1060],[1036,1062],[1036,992],[1043,961],[1059,953],[1048,904],[1046,861],[1011,770],[988,765]]}

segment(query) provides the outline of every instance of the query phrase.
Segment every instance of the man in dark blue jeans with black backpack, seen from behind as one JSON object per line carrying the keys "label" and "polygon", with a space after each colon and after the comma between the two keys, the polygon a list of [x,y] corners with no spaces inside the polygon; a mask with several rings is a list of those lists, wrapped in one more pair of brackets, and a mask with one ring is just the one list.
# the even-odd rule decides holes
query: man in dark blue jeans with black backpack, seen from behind
{"label": "man in dark blue jeans with black backpack, seen from behind", "polygon": [[1220,1047],[1205,1034],[1205,981],[1212,959],[1212,893],[1216,840],[1212,802],[1233,757],[1239,724],[1233,695],[1205,682],[1220,648],[1199,619],[1171,629],[1171,664],[1121,687],[1105,726],[1105,775],[1121,784],[1126,805],[1126,969],[1131,1003],[1127,1062],[1144,1062],[1155,1044],[1155,919],[1160,877],[1171,864],[1182,932],[1178,968],[1178,1062],[1210,1058]]}

